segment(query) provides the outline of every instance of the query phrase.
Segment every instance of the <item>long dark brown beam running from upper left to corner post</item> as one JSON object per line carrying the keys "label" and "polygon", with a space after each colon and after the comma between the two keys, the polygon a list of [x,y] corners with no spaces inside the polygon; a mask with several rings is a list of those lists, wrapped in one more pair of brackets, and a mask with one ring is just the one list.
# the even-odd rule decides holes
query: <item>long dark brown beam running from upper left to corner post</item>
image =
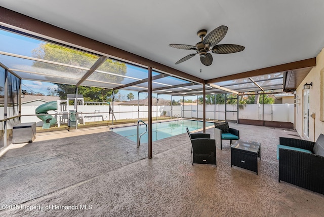
{"label": "long dark brown beam running from upper left to corner post", "polygon": [[40,20],[28,17],[18,12],[0,7],[0,25],[13,28],[18,31],[36,35],[48,40],[67,44],[78,49],[87,50],[89,52],[98,53],[104,56],[112,56],[132,63],[149,66],[165,73],[187,79],[190,81],[205,83],[204,79],[189,75],[183,71],[171,68],[158,62],[146,59],[136,54],[118,49],[116,47],[95,41],[74,32],[59,28],[57,26],[45,23]]}

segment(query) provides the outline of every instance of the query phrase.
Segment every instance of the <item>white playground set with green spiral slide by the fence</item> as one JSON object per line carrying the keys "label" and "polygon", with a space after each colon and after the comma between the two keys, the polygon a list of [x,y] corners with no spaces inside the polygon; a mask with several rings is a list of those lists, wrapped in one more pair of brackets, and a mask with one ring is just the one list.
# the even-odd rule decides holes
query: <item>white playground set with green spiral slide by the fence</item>
{"label": "white playground set with green spiral slide by the fence", "polygon": [[112,108],[109,102],[85,103],[83,95],[77,95],[76,98],[74,94],[67,94],[66,100],[39,105],[35,109],[35,114],[44,122],[43,129],[49,129],[55,124],[60,127],[63,123],[67,123],[69,128],[75,128],[78,124],[85,125],[90,121],[110,120]]}

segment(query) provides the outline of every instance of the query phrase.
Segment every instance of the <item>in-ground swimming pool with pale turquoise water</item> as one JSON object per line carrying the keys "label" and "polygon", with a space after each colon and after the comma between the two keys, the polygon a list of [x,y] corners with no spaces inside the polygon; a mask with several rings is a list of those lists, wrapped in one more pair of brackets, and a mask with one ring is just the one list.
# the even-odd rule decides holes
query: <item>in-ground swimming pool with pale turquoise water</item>
{"label": "in-ground swimming pool with pale turquoise water", "polygon": [[[206,127],[213,126],[214,122],[206,122]],[[188,127],[189,131],[203,128],[202,121],[194,120],[176,120],[167,122],[152,123],[152,141],[179,135],[186,132]],[[137,126],[130,127],[115,127],[111,128],[115,133],[124,136],[132,141],[137,142]],[[146,126],[144,124],[139,126],[139,134],[145,132]],[[146,132],[141,137],[141,143],[148,142],[148,133]]]}

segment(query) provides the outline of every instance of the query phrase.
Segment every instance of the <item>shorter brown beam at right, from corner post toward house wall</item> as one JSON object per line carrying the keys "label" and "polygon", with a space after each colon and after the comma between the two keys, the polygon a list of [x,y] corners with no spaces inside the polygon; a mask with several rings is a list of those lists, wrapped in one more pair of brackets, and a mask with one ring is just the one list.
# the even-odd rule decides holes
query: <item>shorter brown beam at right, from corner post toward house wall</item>
{"label": "shorter brown beam at right, from corner post toward house wall", "polygon": [[216,82],[222,82],[222,81],[229,81],[229,80],[235,80],[235,79],[243,79],[243,78],[249,78],[253,76],[262,76],[262,75],[267,75],[271,73],[280,73],[282,71],[289,71],[289,70],[294,70],[294,69],[299,69],[299,68],[306,68],[306,67],[311,67],[311,66],[316,66],[316,58],[310,58],[310,59],[304,59],[296,62],[290,62],[290,63],[285,63],[281,65],[275,65],[267,68],[260,68],[252,71],[246,71],[244,73],[238,73],[230,76],[224,76],[220,78],[215,78],[215,79],[209,79],[206,80],[206,84],[212,84]]}

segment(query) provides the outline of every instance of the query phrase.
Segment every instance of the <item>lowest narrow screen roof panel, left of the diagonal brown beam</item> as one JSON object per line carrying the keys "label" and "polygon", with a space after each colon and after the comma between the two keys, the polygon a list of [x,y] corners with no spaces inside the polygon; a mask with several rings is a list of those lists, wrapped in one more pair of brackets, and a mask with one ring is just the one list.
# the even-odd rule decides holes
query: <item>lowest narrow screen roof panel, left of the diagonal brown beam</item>
{"label": "lowest narrow screen roof panel, left of the diagonal brown beam", "polygon": [[29,74],[29,73],[22,73],[20,71],[13,71],[17,76],[23,78],[23,80],[31,80],[31,81],[42,81],[42,82],[52,82],[58,84],[71,84],[76,85],[79,81],[77,79],[70,79],[70,78],[62,78],[58,76],[45,76],[45,75],[37,75],[37,74]]}

